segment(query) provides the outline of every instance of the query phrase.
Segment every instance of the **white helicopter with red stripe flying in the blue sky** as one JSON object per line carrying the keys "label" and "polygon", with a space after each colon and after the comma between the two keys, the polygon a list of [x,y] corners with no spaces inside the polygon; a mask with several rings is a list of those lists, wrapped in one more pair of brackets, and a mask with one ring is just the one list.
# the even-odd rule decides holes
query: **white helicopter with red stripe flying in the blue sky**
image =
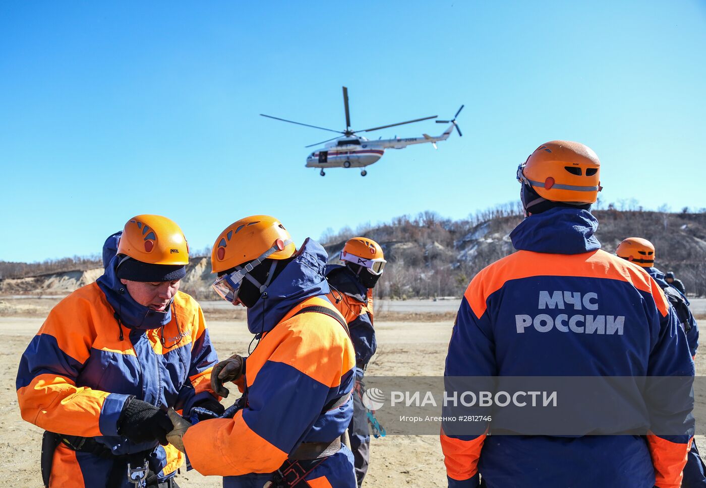
{"label": "white helicopter with red stripe flying in the blue sky", "polygon": [[412,121],[390,123],[387,126],[373,127],[363,130],[351,130],[351,118],[348,109],[348,89],[343,87],[343,106],[345,108],[346,114],[346,130],[334,130],[325,127],[311,126],[308,123],[301,123],[295,121],[288,121],[285,118],[273,117],[271,115],[260,114],[263,117],[274,118],[277,121],[296,123],[299,126],[306,126],[321,130],[328,130],[329,132],[335,132],[343,134],[342,136],[337,135],[335,138],[324,140],[321,142],[316,142],[315,144],[308,145],[306,147],[318,146],[325,144],[321,149],[313,151],[309,156],[306,157],[306,168],[320,168],[319,174],[325,176],[324,169],[327,168],[360,168],[360,175],[366,176],[368,171],[366,171],[366,166],[370,166],[378,162],[378,160],[383,157],[386,149],[404,149],[405,147],[412,144],[422,144],[424,142],[429,142],[433,145],[434,149],[438,149],[436,142],[441,140],[447,140],[453,128],[455,127],[458,135],[462,136],[460,128],[456,123],[456,118],[458,114],[461,113],[463,105],[458,109],[455,116],[449,121],[436,121],[436,123],[448,123],[450,124],[446,130],[441,133],[441,135],[429,135],[422,134],[421,138],[395,138],[393,139],[378,139],[369,140],[364,138],[357,133],[361,132],[372,132],[373,130],[380,130],[389,127],[403,126],[407,123],[426,121],[431,118],[437,118],[438,116],[432,115],[428,117],[415,118]]}

